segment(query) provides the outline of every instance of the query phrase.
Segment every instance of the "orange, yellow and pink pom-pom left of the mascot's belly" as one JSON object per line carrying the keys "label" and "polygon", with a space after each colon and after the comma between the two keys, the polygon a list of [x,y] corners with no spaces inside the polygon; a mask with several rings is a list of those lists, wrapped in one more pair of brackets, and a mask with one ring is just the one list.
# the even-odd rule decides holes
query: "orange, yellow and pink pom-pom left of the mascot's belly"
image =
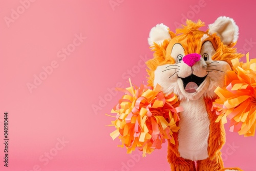
{"label": "orange, yellow and pink pom-pom left of the mascot's belly", "polygon": [[183,110],[177,96],[165,96],[159,85],[155,89],[143,84],[134,88],[129,81],[129,88],[118,89],[125,95],[111,111],[117,114],[112,121],[116,130],[110,134],[113,140],[119,137],[122,145],[118,146],[125,146],[127,153],[137,147],[143,151],[143,157],[160,149],[165,139],[175,144],[173,132],[179,130],[176,122],[179,121],[178,113]]}

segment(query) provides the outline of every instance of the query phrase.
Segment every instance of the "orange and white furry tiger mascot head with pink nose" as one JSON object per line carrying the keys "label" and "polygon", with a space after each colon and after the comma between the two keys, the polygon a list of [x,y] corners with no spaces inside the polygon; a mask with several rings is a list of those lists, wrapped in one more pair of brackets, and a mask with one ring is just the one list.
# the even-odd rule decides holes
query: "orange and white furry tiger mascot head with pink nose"
{"label": "orange and white furry tiger mascot head with pink nose", "polygon": [[238,39],[238,26],[233,19],[219,17],[204,32],[200,20],[187,20],[176,33],[163,24],[150,32],[148,43],[154,59],[146,62],[151,86],[160,84],[164,93],[174,92],[179,99],[214,98],[214,90],[223,87],[230,60],[241,57],[233,46]]}

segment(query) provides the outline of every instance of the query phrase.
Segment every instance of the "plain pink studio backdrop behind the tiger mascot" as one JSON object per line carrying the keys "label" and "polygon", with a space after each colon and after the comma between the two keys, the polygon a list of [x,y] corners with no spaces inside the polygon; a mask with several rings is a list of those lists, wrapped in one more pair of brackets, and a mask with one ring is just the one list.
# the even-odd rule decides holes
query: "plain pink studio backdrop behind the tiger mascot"
{"label": "plain pink studio backdrop behind the tiger mascot", "polygon": [[[208,25],[229,16],[240,28],[238,50],[256,56],[254,1],[1,0],[0,11],[0,142],[6,111],[10,139],[9,167],[1,161],[0,170],[170,170],[166,144],[145,158],[138,151],[132,158],[111,139],[114,127],[105,126],[112,120],[105,113],[122,96],[109,90],[129,86],[128,77],[137,85],[146,83],[142,59],[153,55],[147,36],[156,24],[174,31],[185,17]],[[80,34],[87,37],[82,42],[75,39]],[[67,48],[69,55],[62,52]],[[44,75],[42,67],[52,62],[55,68]],[[44,80],[30,92],[27,84],[34,84],[34,75]],[[255,137],[225,127],[225,166],[256,170]]]}

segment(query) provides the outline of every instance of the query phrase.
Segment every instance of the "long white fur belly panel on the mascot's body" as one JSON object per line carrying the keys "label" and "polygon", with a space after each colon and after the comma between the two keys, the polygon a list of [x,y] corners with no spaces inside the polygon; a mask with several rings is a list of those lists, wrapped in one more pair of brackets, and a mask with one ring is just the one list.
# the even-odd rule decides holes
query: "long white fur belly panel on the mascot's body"
{"label": "long white fur belly panel on the mascot's body", "polygon": [[190,160],[203,160],[208,157],[209,117],[203,97],[198,100],[183,100],[180,103],[184,112],[179,121],[180,156]]}

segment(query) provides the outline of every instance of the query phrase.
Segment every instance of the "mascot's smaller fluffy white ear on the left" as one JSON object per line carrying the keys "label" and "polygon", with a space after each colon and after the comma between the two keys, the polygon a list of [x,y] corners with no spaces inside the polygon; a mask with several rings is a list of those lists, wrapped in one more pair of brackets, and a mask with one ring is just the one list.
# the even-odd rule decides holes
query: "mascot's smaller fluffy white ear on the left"
{"label": "mascot's smaller fluffy white ear on the left", "polygon": [[167,26],[163,24],[156,25],[156,27],[153,27],[150,31],[150,37],[147,39],[148,44],[152,46],[155,42],[156,44],[161,45],[165,39],[169,41],[171,39],[169,32]]}

